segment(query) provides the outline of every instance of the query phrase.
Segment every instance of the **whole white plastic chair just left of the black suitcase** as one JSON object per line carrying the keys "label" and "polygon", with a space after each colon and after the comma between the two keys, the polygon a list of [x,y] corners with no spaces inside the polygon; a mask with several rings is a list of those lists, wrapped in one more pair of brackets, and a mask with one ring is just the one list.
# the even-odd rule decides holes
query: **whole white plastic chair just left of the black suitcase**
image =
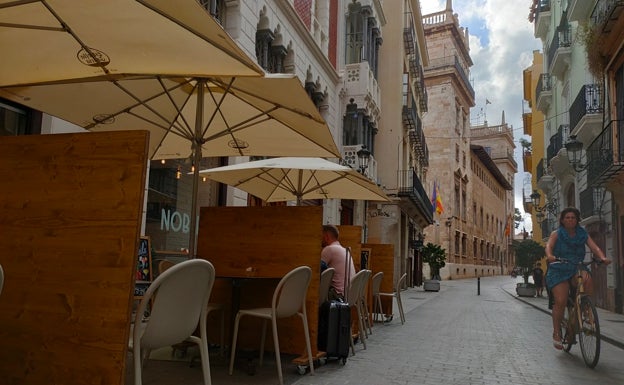
{"label": "whole white plastic chair just left of the black suitcase", "polygon": [[273,300],[270,308],[242,309],[236,314],[234,321],[234,337],[232,340],[232,352],[230,356],[230,375],[234,369],[234,358],[236,357],[236,340],[238,339],[238,325],[243,316],[259,317],[263,319],[262,337],[260,342],[260,365],[264,358],[264,342],[266,339],[266,328],[268,321],[271,321],[273,331],[273,344],[275,348],[275,362],[277,363],[277,375],[279,383],[283,384],[282,361],[279,351],[279,338],[277,334],[277,319],[286,318],[297,314],[303,321],[303,332],[305,334],[306,352],[310,373],[314,374],[314,363],[312,360],[312,346],[310,344],[310,332],[308,330],[308,316],[306,313],[306,294],[312,279],[312,269],[308,266],[300,266],[291,270],[277,284],[273,292]]}

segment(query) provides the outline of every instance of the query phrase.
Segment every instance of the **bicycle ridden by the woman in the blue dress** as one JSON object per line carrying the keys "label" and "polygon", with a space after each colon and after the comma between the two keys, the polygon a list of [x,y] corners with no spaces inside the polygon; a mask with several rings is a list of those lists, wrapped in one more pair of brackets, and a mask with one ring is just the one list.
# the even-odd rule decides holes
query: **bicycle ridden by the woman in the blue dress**
{"label": "bicycle ridden by the woman in the blue dress", "polygon": [[[558,262],[571,263],[565,259],[557,258]],[[589,262],[579,262],[575,273],[576,288],[570,285],[568,294],[568,303],[566,312],[561,323],[563,333],[563,349],[569,352],[572,345],[576,344],[575,335],[578,334],[581,346],[581,354],[585,365],[594,368],[598,364],[600,358],[600,323],[598,321],[598,312],[591,300],[591,297],[585,293],[583,283],[583,266],[588,266],[601,261],[591,260]]]}

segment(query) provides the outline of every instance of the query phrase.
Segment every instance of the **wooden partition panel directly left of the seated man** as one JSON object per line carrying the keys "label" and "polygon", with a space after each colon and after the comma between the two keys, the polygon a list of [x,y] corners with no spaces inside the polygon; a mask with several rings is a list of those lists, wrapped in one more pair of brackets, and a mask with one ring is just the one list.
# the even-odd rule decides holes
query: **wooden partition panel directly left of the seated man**
{"label": "wooden partition panel directly left of the seated man", "polygon": [[[237,307],[270,307],[279,279],[297,266],[310,266],[312,282],[306,307],[312,350],[316,353],[322,215],[319,206],[201,208],[197,254],[215,266],[218,283],[211,300],[229,307],[228,328]],[[246,318],[241,321],[239,348],[258,348],[261,323]],[[280,350],[291,354],[305,351],[299,317],[280,321],[278,329]],[[271,347],[272,342],[267,341],[267,348]]]}

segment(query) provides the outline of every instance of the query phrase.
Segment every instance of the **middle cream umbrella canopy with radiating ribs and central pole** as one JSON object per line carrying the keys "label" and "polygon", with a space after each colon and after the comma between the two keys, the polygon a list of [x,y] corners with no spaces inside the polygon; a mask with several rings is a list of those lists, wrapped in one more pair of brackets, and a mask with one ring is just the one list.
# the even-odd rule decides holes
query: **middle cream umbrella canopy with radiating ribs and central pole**
{"label": "middle cream umbrella canopy with radiating ribs and central pole", "polygon": [[[148,130],[151,159],[340,157],[325,120],[292,74],[134,76],[0,88],[4,97],[90,131]],[[198,164],[198,162],[195,162]]]}

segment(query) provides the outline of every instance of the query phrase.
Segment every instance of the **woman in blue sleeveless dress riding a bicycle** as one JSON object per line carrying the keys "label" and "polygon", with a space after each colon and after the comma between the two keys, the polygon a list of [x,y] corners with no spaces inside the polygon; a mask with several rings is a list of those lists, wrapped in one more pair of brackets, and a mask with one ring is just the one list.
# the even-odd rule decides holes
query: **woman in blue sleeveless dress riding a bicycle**
{"label": "woman in blue sleeveless dress riding a bicycle", "polygon": [[[585,259],[585,245],[604,264],[611,263],[591,239],[587,231],[579,225],[581,213],[574,207],[568,207],[561,211],[559,216],[559,228],[553,231],[546,244],[546,258],[549,263],[546,273],[546,286],[550,295],[554,297],[552,308],[553,319],[553,345],[555,349],[563,349],[561,341],[561,321],[568,300],[570,282],[576,285],[576,281],[570,278],[576,274],[577,264]],[[564,259],[570,263],[558,263],[557,259]],[[592,294],[592,279],[588,270],[582,272],[583,285],[586,293]]]}

